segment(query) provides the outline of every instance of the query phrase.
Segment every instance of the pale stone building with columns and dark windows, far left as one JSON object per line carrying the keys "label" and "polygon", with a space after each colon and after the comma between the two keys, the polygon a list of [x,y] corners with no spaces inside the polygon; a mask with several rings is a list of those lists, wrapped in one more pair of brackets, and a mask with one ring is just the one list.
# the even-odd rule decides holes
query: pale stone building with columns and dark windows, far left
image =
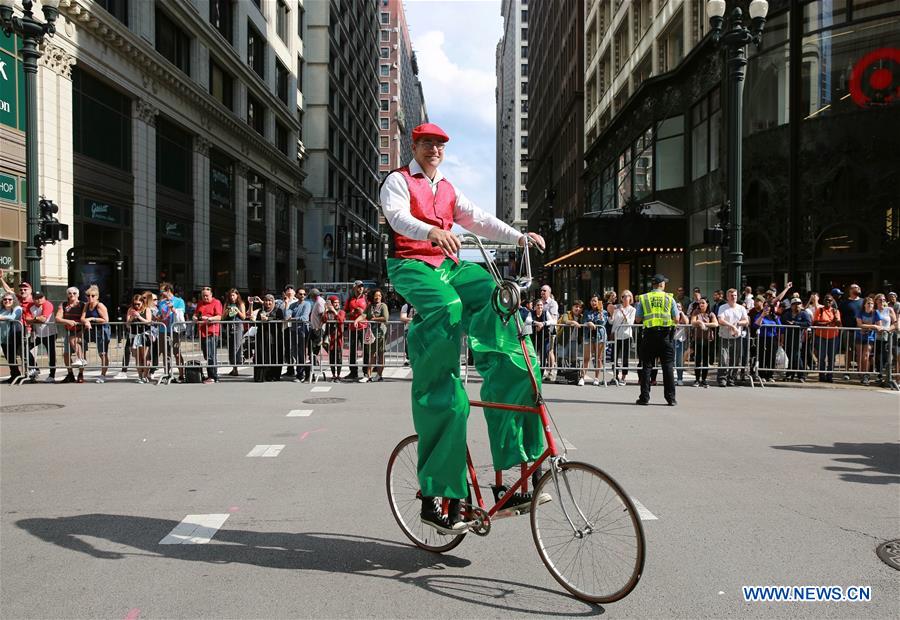
{"label": "pale stone building with columns and dark windows, far left", "polygon": [[[303,2],[67,0],[37,76],[40,192],[68,242],[44,281],[100,284],[113,305],[169,280],[258,292],[305,277],[298,157]],[[0,180],[21,184],[21,41],[0,35]],[[3,76],[7,77],[7,76]],[[0,255],[21,271],[24,196],[0,194]]]}

